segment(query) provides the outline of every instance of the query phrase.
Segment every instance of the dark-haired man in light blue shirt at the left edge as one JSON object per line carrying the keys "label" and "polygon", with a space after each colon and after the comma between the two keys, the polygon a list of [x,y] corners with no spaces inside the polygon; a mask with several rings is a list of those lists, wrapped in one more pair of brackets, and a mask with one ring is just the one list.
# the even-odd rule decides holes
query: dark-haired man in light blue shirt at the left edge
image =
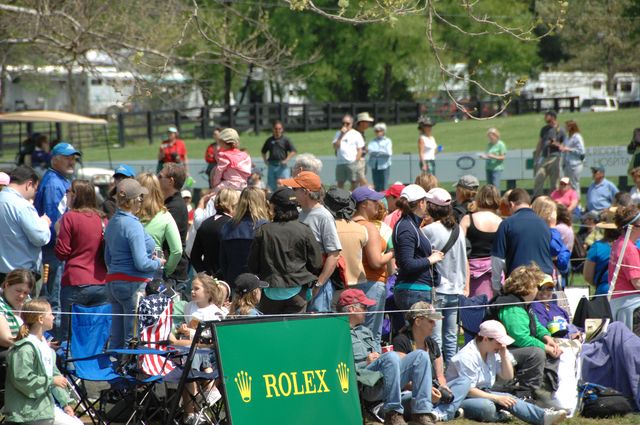
{"label": "dark-haired man in light blue shirt at the left edge", "polygon": [[26,166],[11,171],[10,183],[0,192],[0,282],[15,269],[40,273],[40,250],[49,242],[51,220],[38,217],[31,200],[38,174]]}

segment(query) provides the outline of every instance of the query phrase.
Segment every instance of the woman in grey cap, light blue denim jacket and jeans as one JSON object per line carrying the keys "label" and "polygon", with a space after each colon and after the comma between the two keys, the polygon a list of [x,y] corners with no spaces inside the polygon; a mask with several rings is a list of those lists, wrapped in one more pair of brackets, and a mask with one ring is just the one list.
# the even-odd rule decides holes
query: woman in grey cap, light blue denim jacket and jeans
{"label": "woman in grey cap, light blue denim jacket and jeans", "polygon": [[111,301],[111,348],[122,348],[133,337],[135,294],[166,262],[155,258],[155,243],[135,214],[149,191],[134,179],[120,182],[117,210],[104,231],[107,295]]}

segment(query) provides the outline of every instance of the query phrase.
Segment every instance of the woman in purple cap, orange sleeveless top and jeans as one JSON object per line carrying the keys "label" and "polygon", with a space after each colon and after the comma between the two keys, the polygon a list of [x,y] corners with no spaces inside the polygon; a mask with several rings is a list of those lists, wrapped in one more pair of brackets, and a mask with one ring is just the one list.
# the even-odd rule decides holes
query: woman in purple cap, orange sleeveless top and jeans
{"label": "woman in purple cap, orange sleeveless top and jeans", "polygon": [[[393,259],[393,250],[388,250],[387,241],[380,234],[380,230],[374,223],[378,216],[380,200],[384,194],[376,192],[367,186],[360,186],[351,193],[356,203],[356,212],[353,221],[362,225],[367,234],[367,241],[362,250],[362,266],[367,278],[365,283],[356,285],[362,289],[368,298],[377,302],[369,311],[383,311],[387,298],[387,265]],[[383,223],[381,223],[383,224]],[[338,228],[340,235],[340,228]],[[344,253],[345,243],[342,242]],[[367,315],[365,326],[373,332],[376,342],[380,343],[382,336],[382,314]]]}

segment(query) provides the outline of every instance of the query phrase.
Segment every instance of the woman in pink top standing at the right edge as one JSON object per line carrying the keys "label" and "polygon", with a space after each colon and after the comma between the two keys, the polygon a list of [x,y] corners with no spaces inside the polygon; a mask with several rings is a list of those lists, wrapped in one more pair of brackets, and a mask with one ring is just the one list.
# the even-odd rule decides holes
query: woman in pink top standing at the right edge
{"label": "woman in pink top standing at the right edge", "polygon": [[611,247],[609,279],[613,279],[616,264],[623,249],[627,226],[632,228],[615,286],[611,282],[613,286],[611,312],[613,320],[623,322],[638,335],[640,334],[640,323],[638,323],[640,320],[640,251],[636,248],[635,241],[640,238],[640,211],[635,205],[619,208],[614,220],[616,226],[622,230],[622,234]]}

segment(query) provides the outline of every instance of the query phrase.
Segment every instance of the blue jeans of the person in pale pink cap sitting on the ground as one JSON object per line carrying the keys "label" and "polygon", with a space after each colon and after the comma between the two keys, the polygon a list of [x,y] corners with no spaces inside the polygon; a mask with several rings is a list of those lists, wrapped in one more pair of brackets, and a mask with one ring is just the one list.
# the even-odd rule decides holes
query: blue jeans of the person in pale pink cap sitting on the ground
{"label": "blue jeans of the person in pale pink cap sitting on the ground", "polygon": [[[506,395],[513,397],[511,394],[487,391],[491,394]],[[460,407],[464,409],[465,419],[473,419],[480,422],[496,422],[498,421],[498,410],[508,410],[513,415],[530,424],[538,425],[544,423],[544,409],[532,403],[516,398],[516,404],[507,409],[502,406],[496,406],[494,402],[486,398],[467,398]]]}

